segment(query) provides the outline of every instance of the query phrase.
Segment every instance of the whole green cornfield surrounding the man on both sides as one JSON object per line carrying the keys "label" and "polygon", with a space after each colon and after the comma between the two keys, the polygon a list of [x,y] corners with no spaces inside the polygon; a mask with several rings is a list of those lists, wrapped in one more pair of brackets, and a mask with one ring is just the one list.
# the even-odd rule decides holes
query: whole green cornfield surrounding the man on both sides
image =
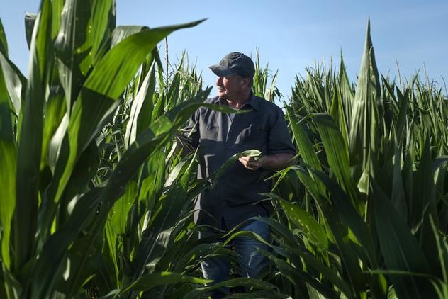
{"label": "whole green cornfield surrounding the man on both sides", "polygon": [[[201,22],[116,26],[113,0],[43,0],[25,77],[0,21],[0,298],[448,298],[448,98],[381,77],[369,24],[357,84],[343,60],[310,68],[284,103],[298,163],[271,178],[269,242],[227,235],[266,242],[269,271],[202,278],[235,254],[197,239],[207,182],[175,136],[211,89],[157,49]],[[281,101],[256,62],[254,93]]]}

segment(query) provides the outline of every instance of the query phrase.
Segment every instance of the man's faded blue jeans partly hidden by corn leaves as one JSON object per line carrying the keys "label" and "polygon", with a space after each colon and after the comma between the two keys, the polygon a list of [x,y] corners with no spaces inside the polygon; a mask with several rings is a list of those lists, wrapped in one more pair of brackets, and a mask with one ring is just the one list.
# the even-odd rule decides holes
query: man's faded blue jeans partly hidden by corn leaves
{"label": "man's faded blue jeans partly hidden by corn leaves", "polygon": [[[250,231],[257,233],[264,240],[269,240],[269,225],[261,221],[252,221],[241,227],[238,231]],[[201,232],[200,237],[207,237],[212,232]],[[233,239],[233,246],[237,253],[238,264],[241,276],[248,278],[259,278],[263,269],[268,266],[269,259],[257,249],[269,251],[269,246],[260,243],[251,237],[237,237]],[[213,279],[213,283],[228,279],[229,261],[225,257],[214,256],[201,262],[204,278]],[[228,288],[220,290],[220,293],[228,293]],[[212,295],[212,298],[219,298],[219,295]]]}

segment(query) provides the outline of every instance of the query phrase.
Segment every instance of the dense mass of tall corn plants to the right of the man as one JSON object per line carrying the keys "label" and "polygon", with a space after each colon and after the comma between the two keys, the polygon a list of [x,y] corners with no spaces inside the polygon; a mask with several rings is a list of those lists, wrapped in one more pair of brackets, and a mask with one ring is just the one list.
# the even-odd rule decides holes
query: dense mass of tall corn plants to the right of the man
{"label": "dense mass of tall corn plants to the right of the man", "polygon": [[447,288],[447,101],[382,79],[368,26],[357,86],[342,61],[338,77],[298,80],[286,107],[301,163],[271,195],[281,224],[269,220],[279,242],[269,256],[296,298],[442,298]]}

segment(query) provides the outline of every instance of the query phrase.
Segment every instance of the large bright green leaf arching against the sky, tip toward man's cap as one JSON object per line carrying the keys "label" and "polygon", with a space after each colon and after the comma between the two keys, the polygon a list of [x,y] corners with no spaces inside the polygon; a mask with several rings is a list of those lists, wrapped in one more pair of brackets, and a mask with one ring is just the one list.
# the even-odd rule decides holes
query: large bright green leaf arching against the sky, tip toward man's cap
{"label": "large bright green leaf arching against the sky, tip toward man's cap", "polygon": [[[92,70],[75,101],[65,141],[48,194],[58,202],[74,164],[86,145],[118,105],[116,101],[157,43],[173,30],[196,26],[201,21],[179,26],[144,30],[113,47]],[[132,52],[133,55],[128,55]],[[47,219],[45,221],[50,221]]]}

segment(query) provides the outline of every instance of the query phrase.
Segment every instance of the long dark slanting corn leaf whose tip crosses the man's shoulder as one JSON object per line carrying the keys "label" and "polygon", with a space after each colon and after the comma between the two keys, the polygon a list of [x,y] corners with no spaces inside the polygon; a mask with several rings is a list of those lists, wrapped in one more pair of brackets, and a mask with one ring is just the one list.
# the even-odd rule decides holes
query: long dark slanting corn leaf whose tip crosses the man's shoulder
{"label": "long dark slanting corn leaf whose tip crosses the man's shoulder", "polygon": [[[123,195],[128,181],[147,157],[171,140],[177,128],[183,125],[197,108],[204,105],[203,101],[208,92],[204,91],[197,98],[169,111],[167,118],[170,119],[169,122],[173,124],[172,126],[167,126],[164,122],[153,123],[152,128],[139,135],[133,145],[123,154],[105,186],[93,188],[77,199],[69,219],[43,245],[42,254],[35,265],[36,279],[33,281],[33,295],[35,294],[36,298],[45,298],[51,294],[52,290],[49,286],[58,279],[55,272],[60,267],[69,244],[77,239],[82,230],[89,228],[91,240],[95,239],[98,234],[102,234],[108,213],[113,207],[113,203]],[[157,129],[157,126],[164,129]],[[153,130],[158,131],[159,135],[155,135]],[[100,209],[98,209],[99,203],[101,203]],[[98,213],[96,213],[97,211]],[[90,242],[90,244],[94,243]],[[91,247],[86,247],[84,251],[89,252],[90,249]]]}

